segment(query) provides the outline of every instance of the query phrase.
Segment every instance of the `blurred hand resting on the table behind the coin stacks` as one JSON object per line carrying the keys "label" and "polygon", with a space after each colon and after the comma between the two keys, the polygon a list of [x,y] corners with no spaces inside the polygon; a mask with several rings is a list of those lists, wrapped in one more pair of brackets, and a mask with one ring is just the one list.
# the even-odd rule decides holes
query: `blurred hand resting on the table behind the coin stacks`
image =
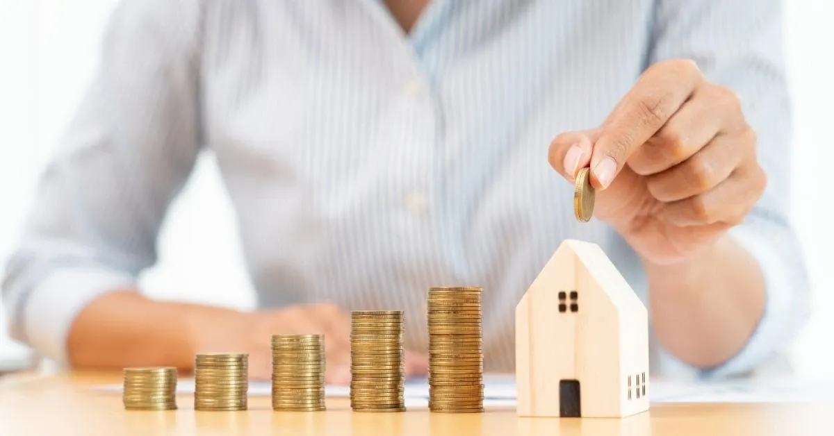
{"label": "blurred hand resting on the table behind the coin stacks", "polygon": [[[334,304],[318,303],[242,313],[224,323],[206,320],[211,326],[199,334],[196,353],[249,353],[249,377],[269,380],[272,376],[270,344],[274,334],[324,334],[326,383],[350,382],[350,315]],[[428,373],[428,358],[404,354],[405,376]]]}

